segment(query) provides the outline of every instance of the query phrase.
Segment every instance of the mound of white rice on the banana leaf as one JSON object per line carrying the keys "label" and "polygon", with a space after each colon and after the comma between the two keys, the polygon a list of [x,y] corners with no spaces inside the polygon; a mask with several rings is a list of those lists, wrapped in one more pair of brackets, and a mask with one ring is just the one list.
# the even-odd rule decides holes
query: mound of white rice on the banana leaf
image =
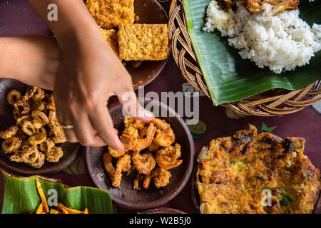
{"label": "mound of white rice on the banana leaf", "polygon": [[228,36],[228,44],[259,68],[269,67],[275,73],[292,71],[309,63],[321,49],[321,25],[312,28],[299,18],[299,10],[270,16],[270,5],[263,5],[263,14],[250,14],[240,1],[237,11],[224,11],[211,1],[207,9],[204,31],[218,29]]}

